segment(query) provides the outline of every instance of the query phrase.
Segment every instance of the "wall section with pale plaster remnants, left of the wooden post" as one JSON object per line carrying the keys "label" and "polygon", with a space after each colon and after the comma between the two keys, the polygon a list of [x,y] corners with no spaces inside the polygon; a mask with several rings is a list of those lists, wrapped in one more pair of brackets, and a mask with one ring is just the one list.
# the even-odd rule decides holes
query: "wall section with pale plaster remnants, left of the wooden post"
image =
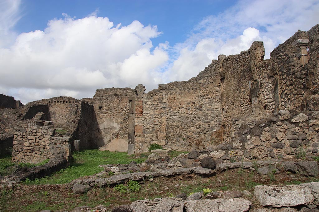
{"label": "wall section with pale plaster remnants, left of the wooden post", "polygon": [[128,148],[129,98],[136,96],[131,88],[96,90],[91,101],[96,115],[92,132],[102,150],[126,152]]}

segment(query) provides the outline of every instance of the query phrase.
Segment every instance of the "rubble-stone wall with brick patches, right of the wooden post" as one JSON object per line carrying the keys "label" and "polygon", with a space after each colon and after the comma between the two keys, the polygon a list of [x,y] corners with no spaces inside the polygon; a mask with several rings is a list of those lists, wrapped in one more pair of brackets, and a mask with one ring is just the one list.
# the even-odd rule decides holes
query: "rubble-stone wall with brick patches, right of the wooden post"
{"label": "rubble-stone wall with brick patches, right of the wooden post", "polygon": [[221,122],[217,66],[213,61],[196,78],[144,94],[143,113],[135,121],[136,152],[147,151],[152,143],[174,150],[211,145]]}

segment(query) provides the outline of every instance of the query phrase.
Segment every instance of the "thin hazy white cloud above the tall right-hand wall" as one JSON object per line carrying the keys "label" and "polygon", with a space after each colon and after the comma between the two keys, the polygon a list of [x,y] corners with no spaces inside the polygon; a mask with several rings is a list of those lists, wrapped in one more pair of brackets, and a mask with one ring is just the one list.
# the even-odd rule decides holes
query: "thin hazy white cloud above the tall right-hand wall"
{"label": "thin hazy white cloud above the tall right-hand wall", "polygon": [[264,42],[265,59],[298,29],[319,23],[319,1],[243,0],[217,16],[205,17],[189,38],[174,46],[177,59],[164,74],[166,82],[194,77],[219,54],[238,54],[253,41]]}

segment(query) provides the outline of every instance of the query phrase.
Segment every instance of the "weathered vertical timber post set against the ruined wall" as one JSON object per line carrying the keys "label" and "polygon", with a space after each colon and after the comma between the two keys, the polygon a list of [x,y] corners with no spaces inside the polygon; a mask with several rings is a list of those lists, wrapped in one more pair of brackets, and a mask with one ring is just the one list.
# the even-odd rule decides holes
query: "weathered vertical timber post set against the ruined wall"
{"label": "weathered vertical timber post set against the ruined wall", "polygon": [[129,126],[128,126],[128,148],[127,148],[127,154],[134,154],[134,148],[135,148],[135,97],[129,98]]}

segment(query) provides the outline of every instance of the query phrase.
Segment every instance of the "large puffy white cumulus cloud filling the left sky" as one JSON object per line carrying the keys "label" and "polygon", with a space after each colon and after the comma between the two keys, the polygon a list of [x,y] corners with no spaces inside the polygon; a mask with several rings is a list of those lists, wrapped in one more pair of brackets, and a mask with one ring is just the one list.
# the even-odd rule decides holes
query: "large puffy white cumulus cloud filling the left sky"
{"label": "large puffy white cumulus cloud filling the left sky", "polygon": [[168,59],[165,48],[151,51],[150,39],[159,35],[156,26],[138,21],[114,27],[107,17],[65,15],[0,49],[0,84],[14,88],[24,102],[52,94],[92,97],[103,87],[154,85],[152,72]]}

